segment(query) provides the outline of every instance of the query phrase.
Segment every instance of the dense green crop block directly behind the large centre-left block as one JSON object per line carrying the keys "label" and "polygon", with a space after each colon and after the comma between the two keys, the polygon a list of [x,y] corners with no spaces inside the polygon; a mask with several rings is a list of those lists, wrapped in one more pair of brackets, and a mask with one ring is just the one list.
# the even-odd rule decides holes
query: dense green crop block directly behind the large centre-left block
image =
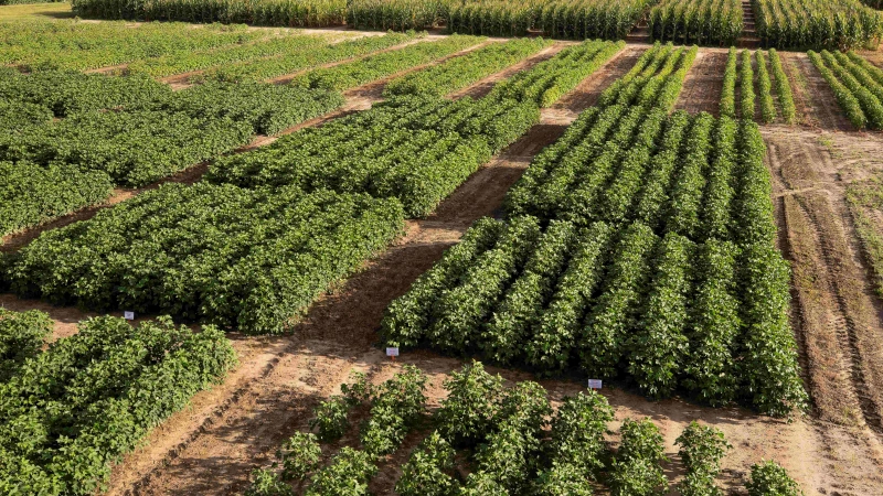
{"label": "dense green crop block directly behind the large centre-left block", "polygon": [[409,217],[422,216],[539,118],[533,103],[400,97],[219,159],[206,180],[366,192],[396,197]]}

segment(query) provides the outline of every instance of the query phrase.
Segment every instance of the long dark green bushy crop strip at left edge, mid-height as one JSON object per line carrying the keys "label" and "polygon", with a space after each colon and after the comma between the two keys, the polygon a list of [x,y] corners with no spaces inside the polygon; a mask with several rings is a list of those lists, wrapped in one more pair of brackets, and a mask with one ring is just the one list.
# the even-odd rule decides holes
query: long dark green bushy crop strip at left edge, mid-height
{"label": "long dark green bushy crop strip at left edge, mid-height", "polygon": [[[4,71],[0,233],[99,203],[114,185],[147,184],[342,103],[337,93],[264,83],[172,93],[140,76]],[[53,122],[53,114],[64,118]]]}

